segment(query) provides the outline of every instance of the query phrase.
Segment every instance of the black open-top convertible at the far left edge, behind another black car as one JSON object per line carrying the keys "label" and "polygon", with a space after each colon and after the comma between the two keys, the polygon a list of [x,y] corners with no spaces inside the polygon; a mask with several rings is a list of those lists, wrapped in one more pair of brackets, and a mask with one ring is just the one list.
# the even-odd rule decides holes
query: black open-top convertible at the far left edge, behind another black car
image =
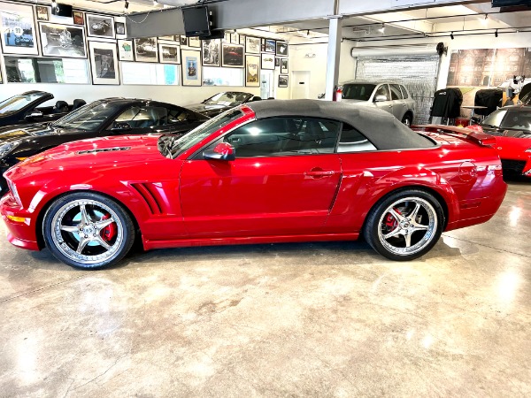
{"label": "black open-top convertible at the far left edge, behind another black car", "polygon": [[0,126],[49,123],[85,104],[83,100],[76,100],[73,105],[58,101],[55,106],[39,107],[51,99],[53,94],[46,91],[27,91],[7,98],[0,102]]}

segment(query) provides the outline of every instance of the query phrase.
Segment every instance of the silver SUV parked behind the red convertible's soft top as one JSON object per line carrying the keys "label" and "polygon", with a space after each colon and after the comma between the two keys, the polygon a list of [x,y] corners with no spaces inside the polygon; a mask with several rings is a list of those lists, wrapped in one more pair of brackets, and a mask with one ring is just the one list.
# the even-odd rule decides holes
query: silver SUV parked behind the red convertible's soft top
{"label": "silver SUV parked behind the red convertible's soft top", "polygon": [[358,105],[375,106],[393,114],[406,126],[411,126],[415,114],[415,101],[407,89],[392,81],[378,83],[367,81],[347,81],[339,88],[341,101]]}

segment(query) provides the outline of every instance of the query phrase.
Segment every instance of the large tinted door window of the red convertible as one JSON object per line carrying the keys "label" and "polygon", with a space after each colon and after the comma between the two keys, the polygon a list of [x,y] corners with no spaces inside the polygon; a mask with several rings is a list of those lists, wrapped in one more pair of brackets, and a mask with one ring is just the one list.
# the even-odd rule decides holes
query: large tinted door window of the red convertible
{"label": "large tinted door window of the red convertible", "polygon": [[236,157],[269,157],[333,153],[341,124],[316,118],[270,118],[248,123],[223,142],[236,149]]}

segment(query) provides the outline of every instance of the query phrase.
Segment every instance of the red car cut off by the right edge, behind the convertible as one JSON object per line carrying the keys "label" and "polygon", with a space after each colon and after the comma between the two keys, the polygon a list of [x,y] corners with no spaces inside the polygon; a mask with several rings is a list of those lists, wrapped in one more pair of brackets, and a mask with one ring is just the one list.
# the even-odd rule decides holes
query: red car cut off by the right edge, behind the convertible
{"label": "red car cut off by the right edge, behind the convertible", "polygon": [[496,136],[505,177],[531,177],[531,106],[505,106],[493,111],[481,131]]}

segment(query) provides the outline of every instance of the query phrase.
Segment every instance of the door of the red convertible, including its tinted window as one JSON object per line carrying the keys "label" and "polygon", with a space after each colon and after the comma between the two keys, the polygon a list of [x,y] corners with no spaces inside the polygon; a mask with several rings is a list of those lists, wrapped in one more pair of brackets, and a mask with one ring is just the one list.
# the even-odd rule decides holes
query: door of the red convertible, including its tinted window
{"label": "door of the red convertible, including its tinted window", "polygon": [[191,237],[319,233],[341,180],[335,145],[341,123],[270,118],[225,134],[235,160],[181,169],[181,210]]}

